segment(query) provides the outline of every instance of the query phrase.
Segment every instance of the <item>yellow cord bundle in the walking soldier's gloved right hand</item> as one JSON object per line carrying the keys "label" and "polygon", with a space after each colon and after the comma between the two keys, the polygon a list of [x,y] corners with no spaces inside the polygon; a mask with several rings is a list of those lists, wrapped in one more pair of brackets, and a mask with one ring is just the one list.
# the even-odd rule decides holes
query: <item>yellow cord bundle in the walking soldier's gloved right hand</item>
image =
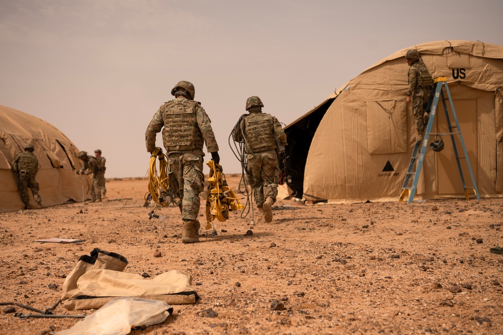
{"label": "yellow cord bundle in the walking soldier's gloved right hand", "polygon": [[230,189],[222,173],[222,167],[216,164],[213,160],[206,162],[210,167],[210,175],[208,183],[208,196],[206,197],[206,229],[213,227],[213,220],[216,218],[220,222],[224,222],[229,218],[230,210],[243,208],[239,203],[236,194]]}

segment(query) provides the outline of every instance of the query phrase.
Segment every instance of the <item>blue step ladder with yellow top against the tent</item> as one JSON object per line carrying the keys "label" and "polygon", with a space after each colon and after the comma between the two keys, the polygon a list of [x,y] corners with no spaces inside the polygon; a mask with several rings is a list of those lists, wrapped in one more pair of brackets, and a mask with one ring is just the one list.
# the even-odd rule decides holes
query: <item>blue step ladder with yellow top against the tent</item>
{"label": "blue step ladder with yellow top against the tent", "polygon": [[[431,104],[431,113],[430,120],[428,121],[428,127],[426,128],[425,138],[421,142],[416,142],[414,145],[414,149],[412,150],[412,156],[410,157],[409,166],[407,169],[407,173],[405,174],[405,180],[403,181],[402,190],[400,192],[400,198],[398,201],[403,201],[405,196],[408,195],[408,203],[412,203],[414,201],[414,195],[417,187],[417,181],[419,180],[419,176],[421,174],[421,169],[423,168],[423,162],[425,159],[426,149],[428,148],[428,140],[430,139],[430,135],[450,135],[452,141],[452,147],[454,148],[454,154],[456,156],[456,163],[458,165],[459,175],[461,176],[461,182],[463,183],[463,189],[465,192],[466,200],[469,199],[470,190],[473,190],[475,196],[477,197],[477,201],[480,201],[480,194],[478,193],[477,184],[475,183],[475,177],[473,176],[473,172],[470,165],[470,160],[468,159],[468,153],[466,152],[465,142],[463,140],[463,135],[461,134],[461,129],[459,128],[458,118],[456,116],[456,110],[454,109],[454,104],[452,103],[451,93],[449,92],[449,86],[447,86],[447,78],[439,77],[434,80],[434,91],[433,101]],[[456,123],[455,126],[451,125],[451,121],[449,118],[449,111],[447,110],[447,105],[445,103],[445,96],[442,87],[445,85],[445,90],[447,92],[447,97],[449,99],[452,115],[454,117],[454,121]],[[439,99],[442,98],[442,104],[444,106],[445,117],[447,120],[447,126],[449,128],[449,133],[437,134],[430,133],[432,130],[433,122],[435,120],[435,114],[437,112],[437,105]],[[454,132],[453,128],[457,131]],[[461,146],[463,147],[464,156],[458,155],[458,150],[456,148],[456,143],[454,142],[454,135],[459,135],[459,140],[461,142]],[[465,179],[463,177],[463,171],[461,170],[461,160],[466,161],[468,165],[468,170],[470,171],[470,177],[472,180],[473,186],[466,186]],[[414,166],[416,165],[415,170]],[[409,186],[410,180],[412,177],[412,185]]]}

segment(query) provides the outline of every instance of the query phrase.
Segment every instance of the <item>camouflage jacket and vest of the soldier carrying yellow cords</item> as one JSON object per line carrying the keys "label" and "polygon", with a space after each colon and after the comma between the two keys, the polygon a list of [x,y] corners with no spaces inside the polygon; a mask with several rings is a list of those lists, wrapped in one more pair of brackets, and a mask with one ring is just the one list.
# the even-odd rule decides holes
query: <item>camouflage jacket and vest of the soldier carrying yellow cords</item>
{"label": "camouflage jacket and vest of the soldier carrying yellow cords", "polygon": [[155,149],[155,137],[162,130],[166,154],[172,152],[204,155],[203,140],[208,152],[218,151],[211,120],[201,104],[184,96],[167,101],[159,107],[145,132],[148,152]]}

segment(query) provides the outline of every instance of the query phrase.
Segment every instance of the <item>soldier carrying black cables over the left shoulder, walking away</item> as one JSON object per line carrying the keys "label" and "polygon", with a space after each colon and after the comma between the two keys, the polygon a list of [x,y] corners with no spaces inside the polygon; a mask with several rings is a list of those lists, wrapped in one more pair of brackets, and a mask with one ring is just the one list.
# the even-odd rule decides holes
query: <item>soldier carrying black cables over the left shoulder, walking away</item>
{"label": "soldier carrying black cables over the left shoulder, walking away", "polygon": [[[255,203],[266,222],[273,220],[272,205],[278,195],[279,164],[276,152],[287,145],[286,134],[278,119],[262,113],[264,104],[258,96],[246,100],[249,115],[241,116],[232,130],[232,139],[243,142],[246,153],[246,173],[250,179]],[[279,145],[278,145],[279,144]]]}

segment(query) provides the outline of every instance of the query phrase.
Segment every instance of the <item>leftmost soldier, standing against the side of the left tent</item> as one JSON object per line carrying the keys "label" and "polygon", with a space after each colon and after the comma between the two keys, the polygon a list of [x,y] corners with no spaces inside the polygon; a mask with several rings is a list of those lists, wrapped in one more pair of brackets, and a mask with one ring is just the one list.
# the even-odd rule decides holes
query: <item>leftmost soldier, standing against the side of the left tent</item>
{"label": "leftmost soldier, standing against the side of the left tent", "polygon": [[47,208],[42,205],[42,199],[40,198],[40,194],[38,194],[38,182],[35,180],[35,176],[38,172],[38,159],[37,156],[33,154],[33,151],[33,144],[28,143],[25,145],[24,152],[19,153],[14,158],[12,169],[18,175],[19,194],[21,195],[21,200],[25,203],[25,208],[30,208],[28,188],[31,189],[33,200],[37,203],[38,208]]}

